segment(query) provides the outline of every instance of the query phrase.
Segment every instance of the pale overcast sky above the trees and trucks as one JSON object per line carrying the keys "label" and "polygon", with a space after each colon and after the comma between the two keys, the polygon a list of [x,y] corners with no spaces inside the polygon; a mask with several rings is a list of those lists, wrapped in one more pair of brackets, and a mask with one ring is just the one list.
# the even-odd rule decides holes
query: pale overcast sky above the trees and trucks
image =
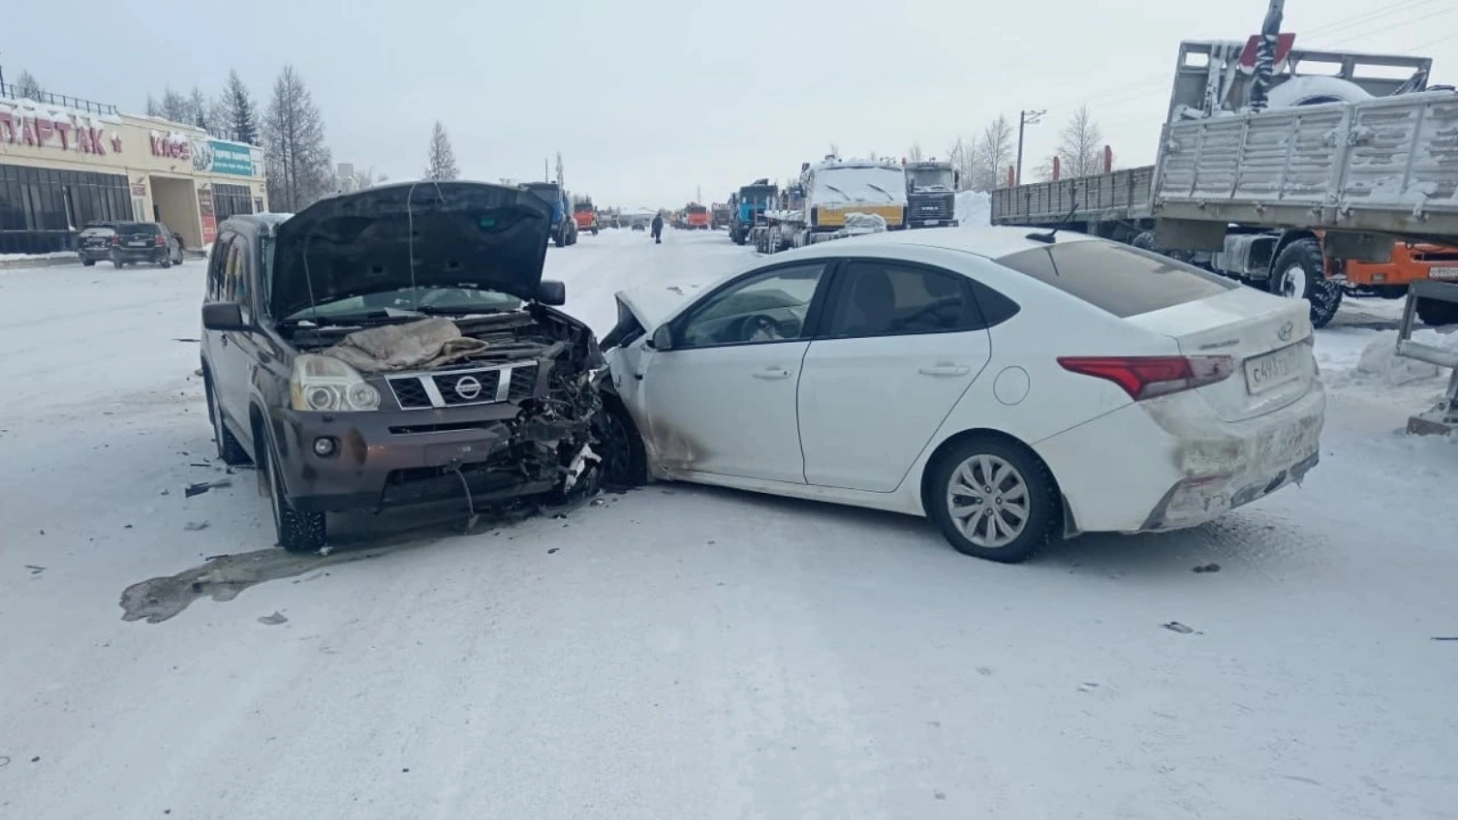
{"label": "pale overcast sky above the trees and trucks", "polygon": [[[439,118],[465,178],[539,178],[561,150],[574,193],[656,207],[787,178],[833,143],[945,156],[999,114],[1045,108],[1031,169],[1080,102],[1120,165],[1147,163],[1178,42],[1244,39],[1266,4],[16,0],[0,66],[141,111],[168,85],[216,93],[229,69],[267,102],[293,63],[337,162],[416,178]],[[1458,83],[1454,0],[1287,0],[1283,29],[1308,48],[1426,54],[1435,82]]]}

